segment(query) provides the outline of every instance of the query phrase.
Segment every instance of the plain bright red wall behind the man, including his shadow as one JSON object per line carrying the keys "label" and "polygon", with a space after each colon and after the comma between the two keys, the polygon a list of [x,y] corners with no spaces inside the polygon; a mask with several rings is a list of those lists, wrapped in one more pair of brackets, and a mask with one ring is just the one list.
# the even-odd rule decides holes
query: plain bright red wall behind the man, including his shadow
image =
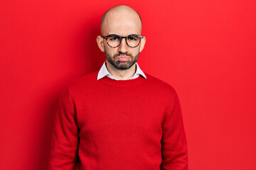
{"label": "plain bright red wall behind the man, including his shadow", "polygon": [[1,1],[0,169],[46,169],[60,90],[100,69],[117,4],[142,16],[139,66],[178,93],[189,169],[256,169],[254,0]]}

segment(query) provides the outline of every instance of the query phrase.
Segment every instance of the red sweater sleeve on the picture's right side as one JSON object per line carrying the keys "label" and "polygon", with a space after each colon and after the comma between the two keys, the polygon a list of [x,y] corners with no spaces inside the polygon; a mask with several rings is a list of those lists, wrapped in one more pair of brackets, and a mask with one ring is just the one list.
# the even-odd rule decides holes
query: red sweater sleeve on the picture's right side
{"label": "red sweater sleeve on the picture's right side", "polygon": [[162,125],[161,170],[188,170],[186,135],[176,92],[166,107],[165,114]]}

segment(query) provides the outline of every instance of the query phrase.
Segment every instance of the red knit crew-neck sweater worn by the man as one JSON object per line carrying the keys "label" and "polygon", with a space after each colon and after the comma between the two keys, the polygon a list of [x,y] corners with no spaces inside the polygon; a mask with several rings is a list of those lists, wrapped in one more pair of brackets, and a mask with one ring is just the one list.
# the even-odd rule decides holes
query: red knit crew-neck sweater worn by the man
{"label": "red knit crew-neck sweater worn by the man", "polygon": [[55,117],[50,170],[186,170],[186,135],[176,91],[164,81],[70,83]]}

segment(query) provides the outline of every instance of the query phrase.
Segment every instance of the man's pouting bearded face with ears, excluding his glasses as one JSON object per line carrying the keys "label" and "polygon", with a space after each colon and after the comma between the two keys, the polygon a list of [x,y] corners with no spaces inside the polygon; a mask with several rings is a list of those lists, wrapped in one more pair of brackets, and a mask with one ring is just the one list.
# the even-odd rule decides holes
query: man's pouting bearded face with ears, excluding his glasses
{"label": "man's pouting bearded face with ears, excluding his glasses", "polygon": [[[141,21],[134,11],[114,11],[113,13],[108,14],[109,15],[105,18],[105,23],[102,26],[103,36],[110,34],[117,34],[120,36],[127,36],[130,34],[141,35]],[[121,44],[115,48],[107,45],[107,40],[99,36],[97,42],[102,52],[105,52],[107,62],[110,62],[116,69],[129,69],[135,62],[137,62],[139,52],[142,51],[145,40],[143,38],[137,47],[129,47],[123,38]]]}

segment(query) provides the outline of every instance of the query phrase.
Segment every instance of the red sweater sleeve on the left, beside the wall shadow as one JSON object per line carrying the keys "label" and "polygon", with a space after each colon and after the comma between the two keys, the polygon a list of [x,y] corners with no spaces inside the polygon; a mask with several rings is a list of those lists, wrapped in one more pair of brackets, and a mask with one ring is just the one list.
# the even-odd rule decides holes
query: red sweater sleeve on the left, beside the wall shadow
{"label": "red sweater sleeve on the left, beside the wall shadow", "polygon": [[78,125],[75,104],[65,88],[58,101],[50,149],[49,170],[75,168],[78,151]]}

